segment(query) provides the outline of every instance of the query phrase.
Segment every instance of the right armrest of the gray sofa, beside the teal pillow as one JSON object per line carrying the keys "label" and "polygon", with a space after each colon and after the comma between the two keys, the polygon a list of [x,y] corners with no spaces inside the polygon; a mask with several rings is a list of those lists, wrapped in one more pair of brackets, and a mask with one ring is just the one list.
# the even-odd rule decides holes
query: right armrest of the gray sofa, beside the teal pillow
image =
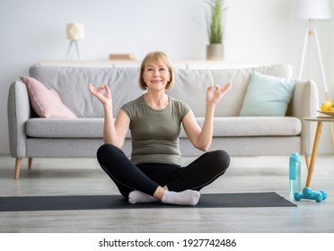
{"label": "right armrest of the gray sofa, beside the teal pillow", "polygon": [[302,145],[301,154],[311,155],[312,142],[315,134],[315,123],[304,120],[304,117],[317,117],[319,108],[318,87],[313,81],[298,81],[294,88],[294,96],[291,104],[291,116],[298,117],[302,121]]}

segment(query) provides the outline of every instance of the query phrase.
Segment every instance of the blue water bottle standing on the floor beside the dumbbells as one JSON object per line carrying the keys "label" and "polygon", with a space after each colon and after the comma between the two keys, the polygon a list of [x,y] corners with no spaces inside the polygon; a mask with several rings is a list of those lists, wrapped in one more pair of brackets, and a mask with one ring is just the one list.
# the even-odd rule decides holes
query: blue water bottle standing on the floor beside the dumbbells
{"label": "blue water bottle standing on the floor beside the dumbbells", "polygon": [[290,155],[289,161],[290,197],[301,192],[301,158],[297,152]]}

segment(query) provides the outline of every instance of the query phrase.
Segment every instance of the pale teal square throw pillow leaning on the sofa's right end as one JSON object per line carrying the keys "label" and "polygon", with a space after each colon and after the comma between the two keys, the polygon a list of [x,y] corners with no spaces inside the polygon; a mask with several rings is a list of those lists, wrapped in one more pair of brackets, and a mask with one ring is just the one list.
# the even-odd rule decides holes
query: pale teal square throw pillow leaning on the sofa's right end
{"label": "pale teal square throw pillow leaning on the sofa's right end", "polygon": [[254,72],[243,100],[240,116],[286,116],[295,84],[295,79]]}

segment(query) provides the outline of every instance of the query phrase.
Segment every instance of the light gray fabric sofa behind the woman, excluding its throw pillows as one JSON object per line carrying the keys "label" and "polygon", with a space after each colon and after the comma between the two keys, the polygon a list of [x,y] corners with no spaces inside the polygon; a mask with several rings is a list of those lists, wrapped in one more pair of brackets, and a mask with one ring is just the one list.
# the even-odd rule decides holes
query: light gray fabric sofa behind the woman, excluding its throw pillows
{"label": "light gray fabric sofa behind the woman, excluding its throw pillows", "polygon": [[[282,78],[292,77],[291,66],[283,64],[222,70],[175,69],[176,85],[169,94],[187,102],[201,124],[205,115],[207,85],[232,81],[233,88],[215,109],[214,140],[210,151],[224,149],[231,156],[288,156],[296,151],[310,156],[315,128],[303,117],[316,116],[319,106],[316,84],[297,81],[286,116],[240,117],[254,71]],[[8,123],[10,152],[16,159],[15,178],[19,177],[22,158],[95,156],[103,143],[103,109],[87,90],[88,82],[110,86],[115,115],[122,104],[144,93],[137,84],[137,68],[32,65],[30,75],[48,88],[54,88],[78,118],[36,117],[26,85],[21,81],[13,82],[8,95]],[[130,150],[128,133],[123,151],[130,156]],[[180,133],[180,150],[183,156],[201,153],[189,143],[183,131]]]}

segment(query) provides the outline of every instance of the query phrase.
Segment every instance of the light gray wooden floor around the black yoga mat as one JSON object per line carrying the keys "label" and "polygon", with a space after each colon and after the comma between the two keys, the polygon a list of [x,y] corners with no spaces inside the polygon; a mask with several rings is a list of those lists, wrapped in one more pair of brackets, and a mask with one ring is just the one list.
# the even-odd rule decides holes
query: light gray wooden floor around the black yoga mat
{"label": "light gray wooden floor around the black yoga mat", "polygon": [[[27,162],[23,160],[21,176],[15,180],[14,160],[0,156],[0,196],[118,194],[94,159],[34,159],[31,171]],[[288,199],[288,184],[288,157],[232,157],[224,177],[201,192],[274,191]],[[318,157],[312,189],[329,196],[321,203],[301,201],[295,202],[298,207],[286,208],[0,212],[0,232],[333,233],[334,157]]]}

